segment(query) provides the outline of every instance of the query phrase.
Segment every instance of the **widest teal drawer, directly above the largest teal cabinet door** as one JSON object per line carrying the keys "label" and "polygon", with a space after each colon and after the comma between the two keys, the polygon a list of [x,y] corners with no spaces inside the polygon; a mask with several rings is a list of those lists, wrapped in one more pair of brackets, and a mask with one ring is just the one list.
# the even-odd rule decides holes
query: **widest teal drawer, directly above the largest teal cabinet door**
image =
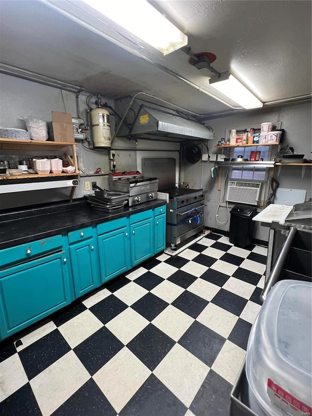
{"label": "widest teal drawer, directly above the largest teal cabinet door", "polygon": [[0,250],[0,270],[12,265],[20,264],[40,257],[43,254],[52,253],[62,248],[62,236],[42,238],[42,240],[32,241],[19,246]]}

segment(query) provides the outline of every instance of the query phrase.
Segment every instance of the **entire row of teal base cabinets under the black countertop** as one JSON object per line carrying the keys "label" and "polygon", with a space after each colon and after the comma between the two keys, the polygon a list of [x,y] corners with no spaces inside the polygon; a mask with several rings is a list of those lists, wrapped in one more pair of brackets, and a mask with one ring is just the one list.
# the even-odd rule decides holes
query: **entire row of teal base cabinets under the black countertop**
{"label": "entire row of teal base cabinets under the black countertop", "polygon": [[0,339],[164,250],[165,227],[162,205],[1,250]]}

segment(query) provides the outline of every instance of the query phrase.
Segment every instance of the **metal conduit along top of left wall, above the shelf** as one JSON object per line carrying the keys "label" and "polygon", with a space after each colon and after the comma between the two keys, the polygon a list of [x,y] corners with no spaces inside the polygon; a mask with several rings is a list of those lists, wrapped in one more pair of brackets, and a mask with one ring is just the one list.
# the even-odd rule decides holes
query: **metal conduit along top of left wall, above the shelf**
{"label": "metal conduit along top of left wall, above the shelf", "polygon": [[68,82],[60,81],[59,79],[53,79],[50,77],[46,77],[44,75],[36,74],[35,72],[32,72],[32,71],[20,69],[12,65],[7,65],[6,63],[0,62],[0,72],[3,74],[18,77],[21,79],[27,79],[29,81],[38,82],[39,84],[48,85],[50,87],[60,88],[64,91],[69,91],[69,92],[84,91],[84,88],[81,86],[69,84]]}

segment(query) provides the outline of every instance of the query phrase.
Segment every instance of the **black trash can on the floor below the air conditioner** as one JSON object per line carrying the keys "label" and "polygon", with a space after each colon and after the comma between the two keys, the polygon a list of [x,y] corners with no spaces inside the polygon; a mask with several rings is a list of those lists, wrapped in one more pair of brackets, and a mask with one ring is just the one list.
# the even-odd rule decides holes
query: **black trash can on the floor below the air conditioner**
{"label": "black trash can on the floor below the air conditioner", "polygon": [[250,205],[235,205],[230,212],[230,243],[242,248],[249,246],[253,239],[253,218],[257,209]]}

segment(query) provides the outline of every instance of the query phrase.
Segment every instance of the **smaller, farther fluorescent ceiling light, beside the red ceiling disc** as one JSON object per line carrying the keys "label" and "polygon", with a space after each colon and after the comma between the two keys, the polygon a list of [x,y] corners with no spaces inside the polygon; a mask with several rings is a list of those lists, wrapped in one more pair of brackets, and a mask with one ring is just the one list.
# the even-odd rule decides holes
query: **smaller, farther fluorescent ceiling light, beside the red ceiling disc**
{"label": "smaller, farther fluorescent ceiling light, beside the red ceiling disc", "polygon": [[259,108],[263,105],[263,103],[230,72],[224,72],[220,77],[217,75],[211,77],[211,79],[209,79],[209,85],[247,110]]}

